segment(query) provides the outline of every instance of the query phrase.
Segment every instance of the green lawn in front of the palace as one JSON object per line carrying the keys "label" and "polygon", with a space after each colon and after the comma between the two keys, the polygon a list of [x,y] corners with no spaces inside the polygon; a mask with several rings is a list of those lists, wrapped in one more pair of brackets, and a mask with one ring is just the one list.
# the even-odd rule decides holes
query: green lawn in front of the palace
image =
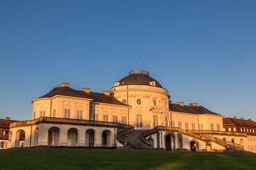
{"label": "green lawn in front of the palace", "polygon": [[0,169],[256,169],[256,154],[96,149],[0,150]]}

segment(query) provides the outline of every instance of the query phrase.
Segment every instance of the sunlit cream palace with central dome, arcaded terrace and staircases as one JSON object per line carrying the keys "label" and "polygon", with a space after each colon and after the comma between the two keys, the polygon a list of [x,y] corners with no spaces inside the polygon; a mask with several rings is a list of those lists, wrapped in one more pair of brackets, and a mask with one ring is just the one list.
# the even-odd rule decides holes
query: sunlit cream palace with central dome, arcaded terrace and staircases
{"label": "sunlit cream palace with central dome, arcaded terrace and staircases", "polygon": [[170,98],[144,70],[132,70],[102,94],[63,83],[31,101],[32,120],[11,123],[8,147],[248,149],[246,133],[223,130],[223,115]]}

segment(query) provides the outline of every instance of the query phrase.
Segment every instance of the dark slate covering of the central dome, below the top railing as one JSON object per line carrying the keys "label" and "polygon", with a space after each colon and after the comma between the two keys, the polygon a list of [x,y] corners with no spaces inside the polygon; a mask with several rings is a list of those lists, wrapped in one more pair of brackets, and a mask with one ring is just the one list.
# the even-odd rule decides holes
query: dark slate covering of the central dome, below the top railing
{"label": "dark slate covering of the central dome, below the top railing", "polygon": [[158,81],[153,79],[152,77],[149,77],[149,75],[146,74],[129,74],[129,76],[124,77],[119,80],[119,85],[146,85],[146,86],[151,86],[150,82],[155,81],[156,82],[156,87],[161,87],[161,84],[159,84]]}

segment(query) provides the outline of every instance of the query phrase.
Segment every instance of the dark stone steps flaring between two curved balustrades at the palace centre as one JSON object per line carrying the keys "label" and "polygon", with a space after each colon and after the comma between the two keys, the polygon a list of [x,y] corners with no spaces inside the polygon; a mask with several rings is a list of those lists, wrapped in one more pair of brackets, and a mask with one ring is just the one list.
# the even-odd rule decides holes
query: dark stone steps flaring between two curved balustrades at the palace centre
{"label": "dark stone steps flaring between two curved balustrades at the palace centre", "polygon": [[127,145],[120,149],[154,149],[142,141],[141,135],[146,131],[148,130],[134,130],[124,135],[123,138],[127,140]]}

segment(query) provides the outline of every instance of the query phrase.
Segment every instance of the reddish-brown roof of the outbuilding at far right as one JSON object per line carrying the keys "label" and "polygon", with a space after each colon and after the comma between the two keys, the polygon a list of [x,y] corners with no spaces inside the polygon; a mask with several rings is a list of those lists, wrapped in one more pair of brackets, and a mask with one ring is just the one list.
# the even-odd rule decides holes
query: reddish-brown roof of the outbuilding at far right
{"label": "reddish-brown roof of the outbuilding at far right", "polygon": [[223,125],[236,125],[256,128],[256,123],[253,120],[237,119],[237,118],[223,118]]}

